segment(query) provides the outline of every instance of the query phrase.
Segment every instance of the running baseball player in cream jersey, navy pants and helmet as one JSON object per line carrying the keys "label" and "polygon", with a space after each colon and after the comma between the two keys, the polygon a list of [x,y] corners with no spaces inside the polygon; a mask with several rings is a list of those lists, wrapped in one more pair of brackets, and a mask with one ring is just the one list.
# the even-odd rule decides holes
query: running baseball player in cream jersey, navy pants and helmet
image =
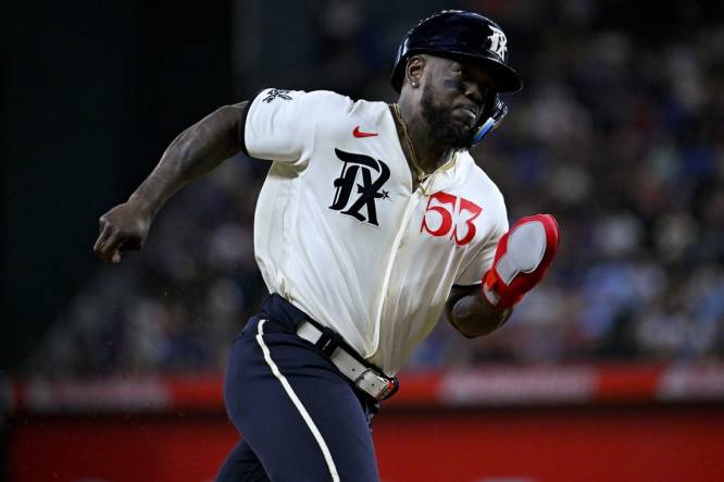
{"label": "running baseball player in cream jersey, navy pants and helmet", "polygon": [[271,160],[254,218],[270,296],[232,344],[224,398],[242,441],[219,481],[378,480],[372,417],[442,310],[485,335],[542,279],[556,221],[509,230],[469,153],[507,112],[498,94],[522,88],[507,50],[482,15],[434,14],[398,49],[397,103],[264,89],[183,132],[100,218],[95,251],[120,262],[183,185],[238,151]]}

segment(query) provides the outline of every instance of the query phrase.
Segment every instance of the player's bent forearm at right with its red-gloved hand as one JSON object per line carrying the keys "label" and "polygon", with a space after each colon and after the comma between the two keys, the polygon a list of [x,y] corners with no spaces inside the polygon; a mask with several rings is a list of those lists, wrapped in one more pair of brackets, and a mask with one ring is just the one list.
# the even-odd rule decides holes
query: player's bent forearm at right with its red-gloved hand
{"label": "player's bent forearm at right with its red-gloved hand", "polygon": [[519,220],[498,242],[482,286],[454,286],[450,292],[446,304],[450,323],[470,338],[502,326],[513,306],[546,275],[558,238],[558,223],[551,214]]}

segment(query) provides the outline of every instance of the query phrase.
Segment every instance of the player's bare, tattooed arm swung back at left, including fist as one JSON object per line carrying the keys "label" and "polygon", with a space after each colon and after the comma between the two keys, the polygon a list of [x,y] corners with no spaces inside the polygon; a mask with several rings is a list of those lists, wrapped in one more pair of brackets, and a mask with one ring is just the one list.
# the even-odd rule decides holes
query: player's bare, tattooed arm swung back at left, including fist
{"label": "player's bare, tattooed arm swung back at left, including fist", "polygon": [[224,106],[179,134],[128,200],[100,217],[96,255],[117,263],[122,250],[140,249],[153,219],[174,193],[239,152],[246,107],[247,102]]}

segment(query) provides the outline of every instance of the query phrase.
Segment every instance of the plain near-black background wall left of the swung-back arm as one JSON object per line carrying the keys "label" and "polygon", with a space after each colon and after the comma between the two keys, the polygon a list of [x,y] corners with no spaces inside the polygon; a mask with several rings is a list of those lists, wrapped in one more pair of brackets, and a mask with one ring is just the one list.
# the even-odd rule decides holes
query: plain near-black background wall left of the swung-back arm
{"label": "plain near-black background wall left of the swung-back arm", "polygon": [[234,100],[230,9],[13,2],[2,15],[0,368],[93,270],[98,217],[190,120]]}

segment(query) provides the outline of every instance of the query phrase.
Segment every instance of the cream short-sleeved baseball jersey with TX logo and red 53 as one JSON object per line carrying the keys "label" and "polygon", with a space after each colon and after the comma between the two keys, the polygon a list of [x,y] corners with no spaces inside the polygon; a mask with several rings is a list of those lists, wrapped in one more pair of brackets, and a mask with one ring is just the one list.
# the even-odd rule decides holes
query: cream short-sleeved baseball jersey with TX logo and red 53
{"label": "cream short-sleeved baseball jersey with TX logo and red 53", "polygon": [[265,89],[240,129],[249,156],[273,161],[254,215],[266,287],[394,375],[452,285],[492,264],[508,231],[500,190],[467,151],[412,190],[385,102]]}

